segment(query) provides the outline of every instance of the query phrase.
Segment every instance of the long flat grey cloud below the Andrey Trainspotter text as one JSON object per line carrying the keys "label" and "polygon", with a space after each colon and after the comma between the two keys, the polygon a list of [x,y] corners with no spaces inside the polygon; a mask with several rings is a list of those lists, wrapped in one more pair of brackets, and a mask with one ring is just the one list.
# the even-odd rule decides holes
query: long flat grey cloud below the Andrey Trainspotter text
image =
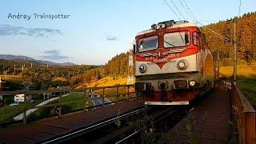
{"label": "long flat grey cloud below the Andrey Trainspotter text", "polygon": [[62,35],[61,30],[48,28],[26,28],[22,26],[0,25],[0,36],[28,35],[35,37],[47,37],[47,35]]}

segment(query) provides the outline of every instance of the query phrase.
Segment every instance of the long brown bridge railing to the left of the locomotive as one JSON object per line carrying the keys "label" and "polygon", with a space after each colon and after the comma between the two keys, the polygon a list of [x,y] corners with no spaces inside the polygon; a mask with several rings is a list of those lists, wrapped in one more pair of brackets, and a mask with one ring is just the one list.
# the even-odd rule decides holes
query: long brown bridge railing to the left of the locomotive
{"label": "long brown bridge railing to the left of the locomotive", "polygon": [[[40,102],[42,102],[42,94],[46,93],[62,93],[62,94],[74,94],[74,93],[80,93],[83,94],[83,98],[75,98],[73,96],[70,97],[69,102],[62,102],[62,94],[60,94],[58,97],[54,100],[54,103],[48,103],[46,105],[41,106],[31,106],[28,101],[26,101],[26,96],[30,94],[34,94],[35,98],[41,98]],[[72,104],[75,105],[83,105],[82,109],[79,110],[90,110],[94,109],[95,107],[99,106],[105,106],[114,104],[116,102],[121,101],[129,101],[130,99],[137,98],[134,92],[134,86],[133,85],[116,85],[116,86],[103,86],[103,87],[86,87],[83,89],[68,89],[68,90],[18,90],[18,91],[0,91],[0,95],[3,95],[4,97],[14,98],[15,94],[25,94],[24,102],[21,102],[20,109],[18,110],[19,113],[22,113],[22,120],[14,121],[14,118],[10,118],[10,115],[8,115],[8,111],[6,111],[5,114],[1,114],[0,110],[0,117],[2,117],[2,120],[6,122],[0,121],[0,126],[6,126],[10,125],[14,122],[23,122],[26,124],[27,119],[29,117],[29,121],[33,122],[35,120],[41,119],[41,118],[49,118],[52,116],[58,116],[60,117],[62,113],[62,108],[67,109],[66,106],[70,106]],[[39,94],[41,94],[39,96]],[[90,94],[90,96],[89,96]],[[93,96],[92,96],[93,95]],[[45,97],[45,96],[44,96]],[[94,98],[98,98],[100,104],[98,105],[90,105],[90,101],[92,101]],[[106,99],[107,98],[107,99]],[[110,101],[109,101],[110,100]],[[10,110],[14,109],[15,107],[7,106],[10,108]],[[81,107],[81,106],[79,106]],[[31,116],[27,116],[28,113],[27,110],[31,109],[37,109],[37,110],[45,110],[40,116],[36,115],[37,118],[31,118]],[[78,110],[67,110],[68,112],[64,113],[72,113]],[[33,114],[33,113],[32,113]],[[2,115],[2,116],[1,116]],[[15,115],[14,115],[15,116]],[[5,118],[6,117],[6,118]],[[7,118],[8,117],[8,118]],[[1,119],[1,118],[0,118]]]}

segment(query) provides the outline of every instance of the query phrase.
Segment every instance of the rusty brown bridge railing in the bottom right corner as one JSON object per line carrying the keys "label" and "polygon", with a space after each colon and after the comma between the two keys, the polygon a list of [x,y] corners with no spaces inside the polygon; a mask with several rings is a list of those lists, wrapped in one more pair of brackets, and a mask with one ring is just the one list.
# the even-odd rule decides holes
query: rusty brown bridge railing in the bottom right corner
{"label": "rusty brown bridge railing in the bottom right corner", "polygon": [[237,120],[239,143],[256,143],[256,113],[253,106],[233,82],[231,83],[230,94],[232,111]]}

